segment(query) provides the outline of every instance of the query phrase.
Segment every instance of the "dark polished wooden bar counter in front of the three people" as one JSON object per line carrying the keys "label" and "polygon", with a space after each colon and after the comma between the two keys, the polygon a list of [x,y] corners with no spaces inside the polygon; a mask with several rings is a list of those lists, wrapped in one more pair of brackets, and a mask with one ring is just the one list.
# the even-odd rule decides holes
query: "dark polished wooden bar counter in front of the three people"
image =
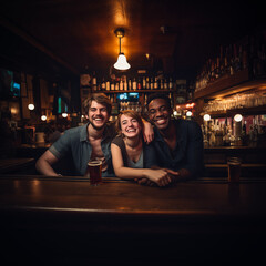
{"label": "dark polished wooden bar counter in front of the three people", "polygon": [[[263,258],[266,178],[149,187],[106,177],[0,176],[9,263],[233,265]],[[263,241],[263,242],[262,242]]]}

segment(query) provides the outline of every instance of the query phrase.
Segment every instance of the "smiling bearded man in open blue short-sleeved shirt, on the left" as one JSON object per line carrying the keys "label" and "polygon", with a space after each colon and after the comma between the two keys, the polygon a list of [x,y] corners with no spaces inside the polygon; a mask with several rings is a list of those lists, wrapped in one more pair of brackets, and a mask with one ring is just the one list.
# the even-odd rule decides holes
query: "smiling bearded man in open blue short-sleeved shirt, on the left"
{"label": "smiling bearded man in open blue short-sleeved shirt, on the left", "polygon": [[[111,141],[116,135],[116,132],[114,123],[109,122],[112,103],[105,94],[96,93],[89,100],[88,108],[89,123],[66,130],[38,160],[35,166],[41,174],[50,176],[60,175],[52,165],[66,156],[72,157],[74,175],[83,176],[89,160],[94,158],[103,162],[102,176],[113,175]],[[150,130],[147,132],[146,140],[149,142],[152,133]]]}

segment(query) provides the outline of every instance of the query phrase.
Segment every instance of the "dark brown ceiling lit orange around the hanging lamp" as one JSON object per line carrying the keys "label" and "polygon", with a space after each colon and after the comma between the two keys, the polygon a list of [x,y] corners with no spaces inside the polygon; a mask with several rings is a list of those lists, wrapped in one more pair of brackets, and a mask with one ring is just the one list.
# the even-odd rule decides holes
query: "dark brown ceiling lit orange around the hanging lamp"
{"label": "dark brown ceiling lit orange around the hanging lamp", "polygon": [[[193,78],[221,44],[265,29],[263,1],[25,0],[0,3],[2,27],[74,73],[109,72],[122,52],[132,69]],[[3,54],[4,51],[1,51]],[[150,58],[146,58],[150,54]]]}

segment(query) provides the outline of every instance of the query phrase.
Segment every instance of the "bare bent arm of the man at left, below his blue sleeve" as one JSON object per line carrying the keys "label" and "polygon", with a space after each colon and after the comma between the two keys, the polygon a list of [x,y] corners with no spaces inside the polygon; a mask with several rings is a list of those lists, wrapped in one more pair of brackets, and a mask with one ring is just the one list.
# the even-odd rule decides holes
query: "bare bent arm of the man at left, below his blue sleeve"
{"label": "bare bent arm of the man at left, below his blue sleeve", "polygon": [[52,168],[52,165],[58,161],[59,160],[48,150],[37,161],[35,167],[38,172],[40,172],[43,175],[59,176],[59,174],[57,174]]}

